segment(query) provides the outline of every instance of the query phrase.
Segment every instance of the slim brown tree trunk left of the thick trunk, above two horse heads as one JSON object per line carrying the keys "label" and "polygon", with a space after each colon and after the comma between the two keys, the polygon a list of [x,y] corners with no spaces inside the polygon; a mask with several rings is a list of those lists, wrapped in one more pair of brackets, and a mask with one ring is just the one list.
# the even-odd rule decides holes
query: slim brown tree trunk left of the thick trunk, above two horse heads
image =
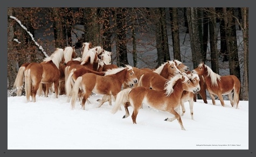
{"label": "slim brown tree trunk left of the thick trunk, above two horse heads", "polygon": [[169,8],[171,18],[171,38],[174,50],[174,59],[181,61],[181,49],[179,46],[179,25],[177,8]]}

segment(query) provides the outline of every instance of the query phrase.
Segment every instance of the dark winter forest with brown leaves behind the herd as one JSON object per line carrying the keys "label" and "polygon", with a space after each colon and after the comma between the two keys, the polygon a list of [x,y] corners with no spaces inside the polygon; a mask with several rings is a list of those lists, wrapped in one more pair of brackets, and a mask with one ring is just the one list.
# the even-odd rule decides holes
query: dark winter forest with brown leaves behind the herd
{"label": "dark winter forest with brown leaves behind the herd", "polygon": [[[248,8],[8,8],[8,90],[23,63],[40,63],[55,48],[73,46],[80,52],[83,42],[115,54],[117,66],[154,69],[171,59],[182,61],[185,32],[192,68],[210,62],[219,73],[227,63],[229,74],[241,81],[240,100],[248,100],[248,25]],[[155,57],[148,59],[153,50]]]}

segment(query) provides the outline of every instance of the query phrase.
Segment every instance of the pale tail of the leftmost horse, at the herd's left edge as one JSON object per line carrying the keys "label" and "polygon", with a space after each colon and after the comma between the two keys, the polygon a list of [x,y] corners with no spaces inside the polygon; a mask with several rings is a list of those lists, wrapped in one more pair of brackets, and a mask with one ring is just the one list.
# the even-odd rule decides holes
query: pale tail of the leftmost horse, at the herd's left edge
{"label": "pale tail of the leftmost horse, at the herd's left edge", "polygon": [[22,95],[22,88],[23,88],[23,79],[24,79],[24,70],[25,66],[20,66],[19,71],[17,73],[15,82],[13,84],[13,87],[17,89],[17,96]]}

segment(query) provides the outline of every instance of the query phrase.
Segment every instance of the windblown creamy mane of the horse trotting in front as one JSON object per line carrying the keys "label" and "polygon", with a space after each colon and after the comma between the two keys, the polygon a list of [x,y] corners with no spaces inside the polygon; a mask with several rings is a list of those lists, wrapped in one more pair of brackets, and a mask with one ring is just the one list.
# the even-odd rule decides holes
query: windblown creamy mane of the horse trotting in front
{"label": "windblown creamy mane of the horse trotting in front", "polygon": [[176,76],[172,77],[169,81],[166,81],[164,85],[164,89],[166,90],[165,92],[166,96],[170,96],[170,94],[174,92],[174,88],[173,88],[174,85],[179,79],[182,79],[182,78],[184,78],[183,83],[189,80],[189,78],[186,75],[176,74]]}

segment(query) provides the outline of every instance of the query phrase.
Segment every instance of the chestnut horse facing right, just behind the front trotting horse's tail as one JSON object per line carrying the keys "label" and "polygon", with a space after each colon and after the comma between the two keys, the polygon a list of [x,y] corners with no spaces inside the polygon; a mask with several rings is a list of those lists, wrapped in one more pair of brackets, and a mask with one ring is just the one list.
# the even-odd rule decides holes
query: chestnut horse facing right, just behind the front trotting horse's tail
{"label": "chestnut horse facing right, just behind the front trotting horse's tail", "polygon": [[[121,91],[122,84],[126,81],[130,86],[134,86],[136,78],[132,66],[126,65],[125,68],[108,70],[105,76],[94,73],[85,73],[78,77],[72,89],[71,107],[74,109],[75,101],[78,98],[79,88],[84,92],[82,99],[82,109],[85,109],[85,102],[93,93],[100,95],[113,95],[114,98]],[[102,105],[100,102],[99,107]]]}

